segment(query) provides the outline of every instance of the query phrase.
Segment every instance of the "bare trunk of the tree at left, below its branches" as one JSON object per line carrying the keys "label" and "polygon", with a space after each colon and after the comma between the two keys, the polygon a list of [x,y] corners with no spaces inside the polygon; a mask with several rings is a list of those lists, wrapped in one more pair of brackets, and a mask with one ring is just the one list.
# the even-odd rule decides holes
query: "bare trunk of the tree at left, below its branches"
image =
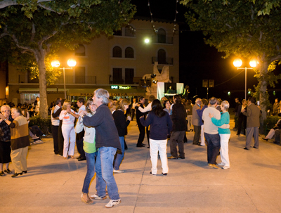
{"label": "bare trunk of the tree at left, below its branches", "polygon": [[39,68],[39,93],[40,93],[40,112],[42,118],[48,118],[48,102],[47,102],[47,81],[46,81],[46,66],[45,66],[45,50],[40,49],[35,53]]}

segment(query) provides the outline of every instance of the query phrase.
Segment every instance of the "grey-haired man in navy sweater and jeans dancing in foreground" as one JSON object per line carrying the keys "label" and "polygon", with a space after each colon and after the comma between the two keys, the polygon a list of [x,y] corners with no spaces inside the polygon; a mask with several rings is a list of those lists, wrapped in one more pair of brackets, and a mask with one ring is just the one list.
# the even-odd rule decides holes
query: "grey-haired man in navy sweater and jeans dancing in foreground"
{"label": "grey-haired man in navy sweater and jeans dancing in foreground", "polygon": [[110,109],[107,107],[110,94],[105,89],[96,89],[93,96],[93,103],[97,106],[96,114],[92,117],[86,116],[86,111],[81,111],[83,124],[86,127],[96,129],[96,149],[98,157],[96,159],[96,188],[98,189],[96,199],[105,199],[107,192],[110,202],[105,207],[110,208],[121,202],[118,187],[113,176],[113,160],[116,150],[121,150],[118,131],[112,117]]}

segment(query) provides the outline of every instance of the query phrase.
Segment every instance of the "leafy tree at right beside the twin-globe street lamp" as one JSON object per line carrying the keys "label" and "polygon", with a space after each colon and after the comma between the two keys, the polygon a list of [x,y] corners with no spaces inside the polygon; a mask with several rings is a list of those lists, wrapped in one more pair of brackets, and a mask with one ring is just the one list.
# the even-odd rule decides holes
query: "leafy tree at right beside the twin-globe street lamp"
{"label": "leafy tree at right beside the twin-globe street lamp", "polygon": [[279,76],[273,74],[281,59],[280,1],[263,0],[183,0],[190,11],[185,14],[190,29],[201,30],[205,43],[218,51],[256,58],[256,77],[263,119],[266,119],[267,86],[274,86]]}

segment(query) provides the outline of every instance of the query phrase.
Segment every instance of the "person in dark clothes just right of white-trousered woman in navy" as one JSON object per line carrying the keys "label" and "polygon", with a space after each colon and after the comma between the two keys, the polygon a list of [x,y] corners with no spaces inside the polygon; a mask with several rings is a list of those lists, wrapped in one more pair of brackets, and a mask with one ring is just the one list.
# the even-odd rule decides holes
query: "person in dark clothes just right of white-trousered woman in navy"
{"label": "person in dark clothes just right of white-trousered woman in navy", "polygon": [[[185,117],[186,111],[184,105],[181,103],[181,96],[176,95],[173,97],[174,105],[172,108],[171,120],[173,122],[172,133],[170,138],[171,156],[168,159],[184,159],[183,137],[187,130]],[[178,150],[176,145],[178,144]],[[178,156],[178,153],[180,154]]]}

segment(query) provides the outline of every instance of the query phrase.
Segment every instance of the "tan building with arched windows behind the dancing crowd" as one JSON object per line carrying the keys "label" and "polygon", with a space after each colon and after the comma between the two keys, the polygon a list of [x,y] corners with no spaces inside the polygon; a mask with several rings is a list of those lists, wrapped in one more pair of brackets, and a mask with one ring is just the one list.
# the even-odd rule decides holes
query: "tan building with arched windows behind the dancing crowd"
{"label": "tan building with arched windows behind the dancing crowd", "polygon": [[[79,44],[76,51],[62,50],[57,59],[60,67],[68,67],[69,58],[77,61],[72,70],[65,70],[67,99],[75,102],[79,97],[93,96],[97,88],[107,89],[112,98],[144,96],[145,89],[139,86],[139,80],[153,73],[155,62],[159,72],[169,65],[171,81],[179,82],[178,52],[178,25],[135,18],[112,37],[101,35],[91,44]],[[8,69],[8,101],[33,103],[40,96],[39,80],[30,80],[29,73],[19,73],[12,65]],[[64,98],[63,75],[48,86],[47,94],[48,105],[55,98]]]}

